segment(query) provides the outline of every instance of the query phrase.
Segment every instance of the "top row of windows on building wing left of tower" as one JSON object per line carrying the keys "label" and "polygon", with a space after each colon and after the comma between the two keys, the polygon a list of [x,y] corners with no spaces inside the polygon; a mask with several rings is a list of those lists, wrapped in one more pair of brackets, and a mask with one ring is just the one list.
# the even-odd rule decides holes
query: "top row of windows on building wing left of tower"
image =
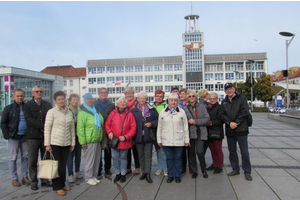
{"label": "top row of windows on building wing left of tower", "polygon": [[[124,70],[125,69],[125,70]],[[138,65],[138,66],[110,66],[110,67],[89,67],[89,74],[102,73],[124,73],[124,72],[153,72],[153,71],[181,71],[182,64],[164,65]]]}

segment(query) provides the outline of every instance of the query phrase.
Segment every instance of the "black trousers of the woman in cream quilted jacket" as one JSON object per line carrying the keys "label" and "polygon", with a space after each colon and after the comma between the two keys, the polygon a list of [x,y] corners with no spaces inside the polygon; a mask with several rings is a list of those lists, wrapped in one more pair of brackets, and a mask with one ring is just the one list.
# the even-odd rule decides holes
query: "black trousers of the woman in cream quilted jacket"
{"label": "black trousers of the woman in cream quilted jacket", "polygon": [[61,147],[56,145],[51,145],[52,154],[55,160],[58,161],[58,178],[52,179],[53,190],[61,190],[65,187],[66,182],[66,169],[67,169],[67,160],[70,152],[70,146]]}

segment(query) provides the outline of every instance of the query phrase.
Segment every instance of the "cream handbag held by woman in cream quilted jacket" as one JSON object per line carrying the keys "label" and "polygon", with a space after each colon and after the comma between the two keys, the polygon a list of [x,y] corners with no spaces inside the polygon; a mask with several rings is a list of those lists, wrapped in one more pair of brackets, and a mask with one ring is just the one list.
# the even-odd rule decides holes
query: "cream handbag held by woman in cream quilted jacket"
{"label": "cream handbag held by woman in cream quilted jacket", "polygon": [[44,154],[43,160],[39,161],[39,174],[38,178],[41,179],[55,179],[58,175],[58,161],[54,159],[50,151],[50,159],[46,160],[47,151]]}

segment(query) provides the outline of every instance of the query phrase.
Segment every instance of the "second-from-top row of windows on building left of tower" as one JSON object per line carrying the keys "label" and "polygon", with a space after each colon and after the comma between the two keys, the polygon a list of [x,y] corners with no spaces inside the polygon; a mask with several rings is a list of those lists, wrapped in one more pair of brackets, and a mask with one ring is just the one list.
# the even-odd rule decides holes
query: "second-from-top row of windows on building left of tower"
{"label": "second-from-top row of windows on building left of tower", "polygon": [[[145,76],[145,82],[168,82],[168,81],[183,81],[182,74],[168,74],[164,75],[147,75]],[[106,77],[106,83],[141,83],[144,82],[144,76],[117,76]],[[105,77],[89,78],[89,84],[105,84]]]}

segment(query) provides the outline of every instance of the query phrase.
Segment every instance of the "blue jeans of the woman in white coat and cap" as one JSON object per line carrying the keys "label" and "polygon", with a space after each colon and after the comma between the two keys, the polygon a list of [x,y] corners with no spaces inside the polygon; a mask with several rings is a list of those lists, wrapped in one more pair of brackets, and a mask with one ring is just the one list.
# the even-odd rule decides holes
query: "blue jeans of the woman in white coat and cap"
{"label": "blue jeans of the woman in white coat and cap", "polygon": [[167,156],[168,177],[180,177],[182,170],[183,147],[163,146]]}

